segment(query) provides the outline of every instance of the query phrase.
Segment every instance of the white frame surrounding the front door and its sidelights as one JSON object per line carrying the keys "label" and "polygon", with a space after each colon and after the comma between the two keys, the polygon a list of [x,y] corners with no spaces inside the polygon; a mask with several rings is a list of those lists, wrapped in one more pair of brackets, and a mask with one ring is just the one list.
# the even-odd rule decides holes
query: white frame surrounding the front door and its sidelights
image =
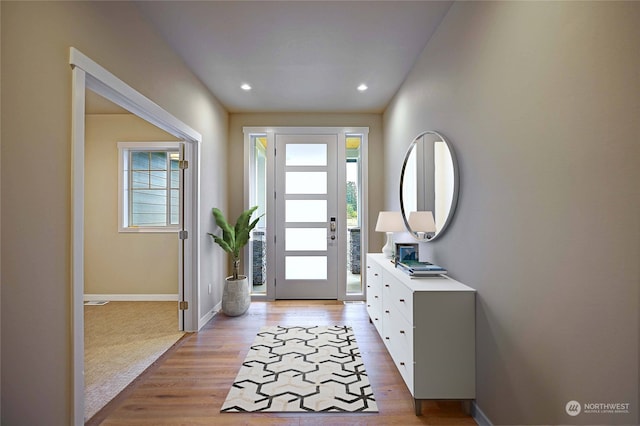
{"label": "white frame surrounding the front door and its sidelights", "polygon": [[[361,262],[365,262],[364,253],[369,246],[369,238],[368,238],[368,198],[369,198],[369,187],[368,187],[368,164],[369,164],[369,156],[368,156],[368,137],[369,137],[369,128],[368,127],[243,127],[242,131],[244,133],[244,164],[245,164],[245,173],[244,173],[244,204],[245,208],[249,206],[251,202],[251,182],[253,176],[251,176],[251,136],[255,134],[263,134],[267,136],[267,162],[269,164],[274,164],[274,148],[275,148],[275,135],[276,134],[336,134],[338,135],[338,164],[343,164],[346,162],[346,152],[345,152],[345,140],[349,135],[360,135],[362,137],[362,142],[360,145],[360,160],[361,164],[361,188],[360,188],[360,206],[362,208],[362,217],[361,217],[361,232],[360,232],[360,243],[362,247],[362,255]],[[346,181],[346,171],[344,167],[338,167],[338,182]],[[269,173],[267,175],[267,193],[272,194],[274,191],[274,176]],[[340,185],[338,183],[338,201],[339,203],[346,204],[346,187],[345,185]],[[338,211],[343,207],[338,205]],[[344,207],[346,208],[346,207]],[[344,210],[343,208],[343,210]],[[273,212],[275,209],[275,200],[273,197],[267,197],[267,212]],[[274,229],[275,219],[273,214],[267,214],[267,229]],[[346,232],[346,230],[345,230]],[[266,251],[267,253],[275,252],[275,243],[272,238],[267,238],[266,242]],[[249,259],[249,248],[245,248],[245,258]],[[269,259],[269,256],[267,256]],[[338,251],[338,300],[364,300],[364,290],[361,295],[353,295],[347,294],[347,246],[346,244],[341,245]],[[366,267],[364,263],[362,267]],[[362,269],[365,271],[366,269]],[[265,296],[252,296],[253,299],[263,299],[263,300],[275,300],[275,288],[273,286],[273,277],[275,277],[275,267],[273,262],[269,262],[267,260],[267,294]]]}

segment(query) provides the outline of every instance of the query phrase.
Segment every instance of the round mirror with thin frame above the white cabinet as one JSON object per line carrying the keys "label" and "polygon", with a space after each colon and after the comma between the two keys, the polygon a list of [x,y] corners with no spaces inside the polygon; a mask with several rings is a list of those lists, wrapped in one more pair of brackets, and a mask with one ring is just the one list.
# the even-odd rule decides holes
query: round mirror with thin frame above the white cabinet
{"label": "round mirror with thin frame above the white cabinet", "polygon": [[433,241],[447,229],[456,209],[458,185],[451,144],[432,130],[416,136],[400,173],[400,210],[414,238]]}

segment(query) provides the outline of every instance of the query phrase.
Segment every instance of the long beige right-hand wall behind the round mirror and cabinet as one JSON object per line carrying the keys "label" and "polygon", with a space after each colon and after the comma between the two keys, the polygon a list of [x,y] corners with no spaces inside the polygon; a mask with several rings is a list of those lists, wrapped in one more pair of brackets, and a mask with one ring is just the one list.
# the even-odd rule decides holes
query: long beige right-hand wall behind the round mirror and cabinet
{"label": "long beige right-hand wall behind the round mirror and cabinet", "polygon": [[455,3],[385,112],[387,182],[422,130],[456,150],[457,214],[428,250],[478,290],[496,425],[640,423],[638,22],[633,2]]}

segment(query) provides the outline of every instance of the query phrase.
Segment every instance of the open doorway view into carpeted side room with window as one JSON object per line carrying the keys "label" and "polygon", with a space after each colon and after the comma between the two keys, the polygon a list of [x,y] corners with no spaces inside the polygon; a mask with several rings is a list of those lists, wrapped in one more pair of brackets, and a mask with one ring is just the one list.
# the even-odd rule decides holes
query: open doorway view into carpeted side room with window
{"label": "open doorway view into carpeted side room with window", "polygon": [[85,105],[84,394],[91,419],[184,335],[177,303],[183,142],[91,90]]}

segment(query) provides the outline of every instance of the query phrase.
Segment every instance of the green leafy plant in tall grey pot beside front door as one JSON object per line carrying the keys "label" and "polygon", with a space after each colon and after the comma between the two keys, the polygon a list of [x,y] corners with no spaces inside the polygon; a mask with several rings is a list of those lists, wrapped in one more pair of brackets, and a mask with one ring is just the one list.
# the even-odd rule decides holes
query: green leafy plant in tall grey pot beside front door
{"label": "green leafy plant in tall grey pot beside front door", "polygon": [[251,292],[249,291],[249,280],[246,275],[240,274],[240,254],[242,249],[249,242],[249,236],[253,228],[256,227],[260,217],[251,222],[251,215],[258,206],[251,207],[243,211],[235,226],[231,226],[220,209],[213,208],[213,217],[216,224],[222,229],[222,236],[209,233],[213,240],[224,251],[231,255],[233,261],[233,274],[225,279],[222,291],[222,311],[229,316],[244,314],[251,304]]}

